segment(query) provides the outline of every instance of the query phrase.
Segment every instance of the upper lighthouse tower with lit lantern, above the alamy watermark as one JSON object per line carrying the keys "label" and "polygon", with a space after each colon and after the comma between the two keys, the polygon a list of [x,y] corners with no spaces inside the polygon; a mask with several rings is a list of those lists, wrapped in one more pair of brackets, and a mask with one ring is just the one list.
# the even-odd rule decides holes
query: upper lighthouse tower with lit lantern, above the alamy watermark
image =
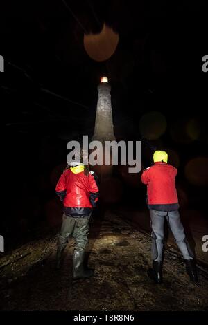
{"label": "upper lighthouse tower with lit lantern, above the alamy watermark", "polygon": [[98,85],[96,121],[92,140],[101,142],[116,140],[112,120],[110,90],[111,87],[110,84],[108,84],[107,77],[102,77],[101,83]]}

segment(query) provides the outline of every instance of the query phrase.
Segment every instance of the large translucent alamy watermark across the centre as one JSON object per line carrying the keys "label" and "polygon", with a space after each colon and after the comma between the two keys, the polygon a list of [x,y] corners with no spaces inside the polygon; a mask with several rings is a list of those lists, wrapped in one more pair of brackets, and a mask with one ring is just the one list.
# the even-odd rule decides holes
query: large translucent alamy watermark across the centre
{"label": "large translucent alamy watermark across the centre", "polygon": [[[83,143],[69,141],[67,149],[72,151],[67,155],[68,165],[83,163],[83,165],[118,166],[128,165],[129,173],[141,171],[141,141],[105,141],[89,142],[88,136],[83,136]],[[84,154],[83,154],[84,153]]]}

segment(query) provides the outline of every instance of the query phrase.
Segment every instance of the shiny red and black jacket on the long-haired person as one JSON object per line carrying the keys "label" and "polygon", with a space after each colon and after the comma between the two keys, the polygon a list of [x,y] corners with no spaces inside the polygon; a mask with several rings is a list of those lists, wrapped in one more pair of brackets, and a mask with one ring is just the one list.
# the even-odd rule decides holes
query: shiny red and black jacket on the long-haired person
{"label": "shiny red and black jacket on the long-haired person", "polygon": [[[76,167],[71,167],[75,169]],[[98,201],[98,185],[94,172],[76,174],[67,169],[60,176],[55,187],[56,194],[64,203],[64,213],[68,216],[88,216]]]}

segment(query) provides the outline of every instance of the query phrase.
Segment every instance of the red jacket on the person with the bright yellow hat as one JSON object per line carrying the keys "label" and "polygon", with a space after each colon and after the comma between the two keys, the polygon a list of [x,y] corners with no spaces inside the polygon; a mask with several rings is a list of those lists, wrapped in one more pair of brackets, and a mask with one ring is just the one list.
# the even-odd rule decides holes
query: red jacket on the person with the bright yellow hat
{"label": "red jacket on the person with the bright yellow hat", "polygon": [[141,175],[142,183],[147,185],[148,207],[154,210],[177,210],[178,198],[175,188],[177,169],[166,163],[155,163]]}

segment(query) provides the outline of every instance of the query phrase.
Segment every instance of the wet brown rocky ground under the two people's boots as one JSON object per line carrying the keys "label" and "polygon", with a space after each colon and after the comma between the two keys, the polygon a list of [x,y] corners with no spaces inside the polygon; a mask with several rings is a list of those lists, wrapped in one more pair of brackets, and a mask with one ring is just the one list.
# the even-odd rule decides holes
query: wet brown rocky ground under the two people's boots
{"label": "wet brown rocky ground under the two people's boots", "polygon": [[106,212],[94,220],[86,258],[95,275],[72,280],[73,241],[55,270],[56,239],[28,243],[0,259],[2,310],[208,310],[207,273],[191,284],[182,259],[166,250],[164,283],[154,284],[150,236]]}

